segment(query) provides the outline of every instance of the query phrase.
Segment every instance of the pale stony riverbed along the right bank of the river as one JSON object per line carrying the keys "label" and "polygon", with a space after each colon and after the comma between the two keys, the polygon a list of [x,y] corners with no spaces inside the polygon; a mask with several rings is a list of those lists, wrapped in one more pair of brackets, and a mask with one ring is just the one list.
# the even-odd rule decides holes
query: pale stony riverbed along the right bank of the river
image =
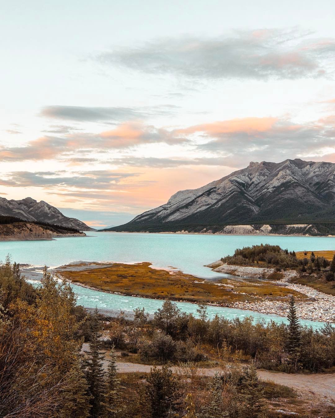
{"label": "pale stony riverbed along the right bank of the river", "polygon": [[[262,279],[266,279],[266,277],[275,271],[273,268],[228,265],[222,263],[221,260],[211,263],[207,267],[212,268],[212,270],[218,273]],[[310,319],[312,321],[335,322],[335,296],[319,292],[306,285],[289,283],[288,280],[297,276],[295,270],[287,270],[282,273],[283,278],[281,280],[276,280],[271,283],[286,286],[289,289],[304,293],[308,297],[306,301],[296,303],[299,318]],[[262,314],[276,314],[280,316],[287,316],[289,312],[288,303],[284,301],[233,302],[229,306],[231,308],[248,309]]]}

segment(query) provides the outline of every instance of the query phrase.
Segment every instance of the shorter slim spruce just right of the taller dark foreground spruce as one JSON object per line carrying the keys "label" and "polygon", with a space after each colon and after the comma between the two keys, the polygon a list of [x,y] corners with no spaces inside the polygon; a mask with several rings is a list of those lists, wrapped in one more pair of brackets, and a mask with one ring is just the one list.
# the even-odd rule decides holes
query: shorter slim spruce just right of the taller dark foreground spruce
{"label": "shorter slim spruce just right of the taller dark foreground spruce", "polygon": [[108,361],[106,392],[103,402],[104,418],[117,418],[122,410],[120,396],[120,380],[117,378],[117,368],[115,362],[114,347],[110,350],[110,360]]}

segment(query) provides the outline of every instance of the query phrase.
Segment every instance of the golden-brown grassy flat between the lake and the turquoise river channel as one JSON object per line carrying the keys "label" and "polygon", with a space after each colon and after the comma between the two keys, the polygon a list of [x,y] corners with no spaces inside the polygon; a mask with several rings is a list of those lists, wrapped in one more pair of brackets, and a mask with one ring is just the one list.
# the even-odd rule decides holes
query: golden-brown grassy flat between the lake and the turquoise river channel
{"label": "golden-brown grassy flat between the lake and the turquoise river channel", "polygon": [[257,301],[265,297],[269,300],[288,299],[291,294],[299,299],[306,297],[302,293],[269,281],[221,279],[212,282],[180,271],[154,269],[150,265],[151,263],[115,263],[104,267],[97,264],[97,268],[93,269],[85,269],[85,266],[82,266],[80,271],[62,270],[59,273],[74,283],[82,283],[102,291],[120,292],[128,296],[220,304]]}

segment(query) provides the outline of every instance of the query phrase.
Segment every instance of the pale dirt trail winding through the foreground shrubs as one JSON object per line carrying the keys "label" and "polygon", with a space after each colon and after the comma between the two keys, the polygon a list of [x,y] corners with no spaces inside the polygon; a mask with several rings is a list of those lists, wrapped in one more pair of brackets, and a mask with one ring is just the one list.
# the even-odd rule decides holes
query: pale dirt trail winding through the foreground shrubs
{"label": "pale dirt trail winding through the foreground shrubs", "polygon": [[[123,363],[117,362],[118,372],[150,372],[152,366],[146,364]],[[161,367],[161,366],[157,366]],[[204,376],[212,376],[215,372],[220,372],[219,368],[199,369]],[[267,370],[258,370],[258,376],[262,380],[269,380],[280,385],[293,387],[297,390],[303,390],[315,395],[321,395],[322,398],[327,398],[335,402],[335,374],[313,374],[300,375],[288,373],[269,372]]]}

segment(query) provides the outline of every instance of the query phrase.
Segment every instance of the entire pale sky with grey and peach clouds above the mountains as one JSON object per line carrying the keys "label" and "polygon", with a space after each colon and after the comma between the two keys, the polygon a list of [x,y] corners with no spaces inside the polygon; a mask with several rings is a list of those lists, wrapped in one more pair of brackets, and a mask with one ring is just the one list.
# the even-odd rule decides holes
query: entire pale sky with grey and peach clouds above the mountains
{"label": "entire pale sky with grey and peach clouds above the mountains", "polygon": [[0,10],[0,196],[99,228],[250,161],[335,163],[333,1]]}

